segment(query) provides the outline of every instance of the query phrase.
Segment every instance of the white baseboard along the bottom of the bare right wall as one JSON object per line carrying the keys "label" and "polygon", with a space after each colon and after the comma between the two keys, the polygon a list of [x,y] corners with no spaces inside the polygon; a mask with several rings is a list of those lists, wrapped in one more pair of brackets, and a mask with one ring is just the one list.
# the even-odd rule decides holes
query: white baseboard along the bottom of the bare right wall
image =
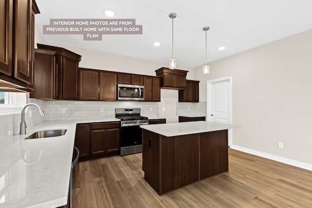
{"label": "white baseboard along the bottom of the bare right wall", "polygon": [[302,168],[302,169],[306,169],[306,170],[312,170],[312,165],[311,164],[299,162],[299,161],[296,161],[296,160],[291,160],[291,159],[288,159],[288,158],[285,158],[285,157],[276,156],[276,155],[265,153],[265,152],[262,152],[262,151],[256,151],[256,150],[252,150],[252,149],[248,149],[248,148],[244,148],[244,147],[240,147],[240,146],[236,146],[236,145],[232,145],[231,149],[238,150],[238,151],[243,151],[243,152],[246,152],[246,153],[249,153],[249,154],[254,154],[254,155],[257,155],[257,156],[260,156],[260,157],[264,157],[264,158],[267,158],[267,159],[275,160],[277,162],[285,163],[285,164],[292,165],[292,166],[295,166],[295,167],[298,167],[298,168]]}

